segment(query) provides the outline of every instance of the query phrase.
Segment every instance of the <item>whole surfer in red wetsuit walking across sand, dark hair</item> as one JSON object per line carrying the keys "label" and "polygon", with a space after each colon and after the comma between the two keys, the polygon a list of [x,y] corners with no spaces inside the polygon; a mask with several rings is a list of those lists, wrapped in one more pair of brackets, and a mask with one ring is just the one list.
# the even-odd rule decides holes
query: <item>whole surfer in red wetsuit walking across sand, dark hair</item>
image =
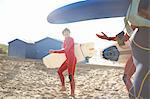
{"label": "whole surfer in red wetsuit walking across sand, dark hair", "polygon": [[74,73],[75,73],[75,67],[77,63],[77,59],[74,52],[74,39],[70,37],[70,30],[68,28],[65,28],[62,32],[63,36],[65,37],[65,40],[63,42],[63,49],[62,50],[51,50],[49,53],[65,53],[66,55],[66,61],[60,66],[58,69],[58,75],[60,77],[61,81],[61,90],[65,91],[65,78],[63,75],[63,72],[68,69],[68,75],[70,80],[70,87],[71,87],[71,95],[75,96],[75,80],[74,80]]}

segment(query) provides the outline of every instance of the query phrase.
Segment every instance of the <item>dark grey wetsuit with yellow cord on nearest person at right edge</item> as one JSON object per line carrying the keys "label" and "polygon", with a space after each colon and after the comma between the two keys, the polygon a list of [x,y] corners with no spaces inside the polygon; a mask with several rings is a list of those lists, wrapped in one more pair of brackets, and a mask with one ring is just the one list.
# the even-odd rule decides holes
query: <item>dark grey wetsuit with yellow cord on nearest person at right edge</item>
{"label": "dark grey wetsuit with yellow cord on nearest person at right edge", "polygon": [[150,28],[139,27],[131,47],[136,72],[130,99],[150,99]]}

